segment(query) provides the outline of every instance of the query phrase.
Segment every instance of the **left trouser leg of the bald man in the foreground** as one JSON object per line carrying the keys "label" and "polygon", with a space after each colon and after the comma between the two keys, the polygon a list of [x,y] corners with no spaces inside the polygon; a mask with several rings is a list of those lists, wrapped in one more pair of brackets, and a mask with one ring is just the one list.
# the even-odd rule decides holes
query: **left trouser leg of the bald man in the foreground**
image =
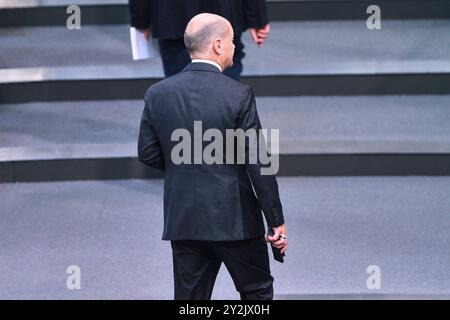
{"label": "left trouser leg of the bald man in the foreground", "polygon": [[172,241],[175,300],[210,300],[222,261],[204,241]]}

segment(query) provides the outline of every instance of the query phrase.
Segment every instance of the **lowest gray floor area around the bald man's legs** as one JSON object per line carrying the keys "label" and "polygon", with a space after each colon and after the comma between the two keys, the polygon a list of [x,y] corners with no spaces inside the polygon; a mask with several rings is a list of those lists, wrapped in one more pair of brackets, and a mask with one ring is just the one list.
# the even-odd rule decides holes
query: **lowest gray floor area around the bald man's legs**
{"label": "lowest gray floor area around the bald man's legs", "polygon": [[[450,294],[449,177],[279,183],[290,237],[286,263],[272,263],[279,298]],[[161,196],[160,180],[0,184],[0,298],[170,299]],[[81,290],[66,288],[69,265]],[[380,290],[366,287],[369,265]],[[238,298],[224,269],[214,298]]]}

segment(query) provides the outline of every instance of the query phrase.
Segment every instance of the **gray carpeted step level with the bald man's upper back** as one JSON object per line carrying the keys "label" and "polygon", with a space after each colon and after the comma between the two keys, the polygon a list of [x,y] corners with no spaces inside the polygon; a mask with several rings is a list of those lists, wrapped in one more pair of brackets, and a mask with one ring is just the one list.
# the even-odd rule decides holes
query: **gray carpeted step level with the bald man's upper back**
{"label": "gray carpeted step level with the bald man's upper back", "polygon": [[[450,151],[449,95],[264,97],[257,103],[263,127],[280,129],[286,144],[417,142],[425,150],[442,144]],[[134,144],[142,109],[141,100],[0,104],[0,148]]]}

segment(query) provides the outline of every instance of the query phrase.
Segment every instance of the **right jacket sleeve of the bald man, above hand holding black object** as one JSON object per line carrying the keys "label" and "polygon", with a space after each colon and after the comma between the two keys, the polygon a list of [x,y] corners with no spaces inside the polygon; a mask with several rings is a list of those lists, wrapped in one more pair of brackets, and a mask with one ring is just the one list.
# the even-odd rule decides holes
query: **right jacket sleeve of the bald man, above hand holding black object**
{"label": "right jacket sleeve of the bald man, above hand holding black object", "polygon": [[[259,134],[261,123],[256,110],[255,95],[253,90],[248,86],[246,86],[246,90],[243,94],[241,113],[238,116],[237,127],[244,131],[254,129],[257,132],[257,141],[259,141],[260,138],[264,139],[264,136]],[[266,217],[269,227],[278,227],[284,224],[284,217],[278,192],[277,179],[275,175],[261,175],[261,168],[264,167],[264,165],[260,162],[259,152],[257,153],[256,164],[251,164],[249,162],[248,139],[246,139],[245,144],[245,165],[258,198],[258,203]]]}

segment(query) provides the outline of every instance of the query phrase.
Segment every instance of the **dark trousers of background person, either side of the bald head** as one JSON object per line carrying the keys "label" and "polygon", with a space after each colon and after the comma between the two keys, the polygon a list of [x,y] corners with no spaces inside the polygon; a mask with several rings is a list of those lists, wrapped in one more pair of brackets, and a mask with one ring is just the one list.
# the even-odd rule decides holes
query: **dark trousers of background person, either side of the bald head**
{"label": "dark trousers of background person, either side of the bald head", "polygon": [[[158,42],[166,77],[177,74],[191,62],[183,39],[159,39]],[[234,50],[233,66],[226,69],[224,74],[239,81],[243,69],[242,59],[245,56],[244,44],[240,35],[235,35],[234,45],[236,48]]]}

